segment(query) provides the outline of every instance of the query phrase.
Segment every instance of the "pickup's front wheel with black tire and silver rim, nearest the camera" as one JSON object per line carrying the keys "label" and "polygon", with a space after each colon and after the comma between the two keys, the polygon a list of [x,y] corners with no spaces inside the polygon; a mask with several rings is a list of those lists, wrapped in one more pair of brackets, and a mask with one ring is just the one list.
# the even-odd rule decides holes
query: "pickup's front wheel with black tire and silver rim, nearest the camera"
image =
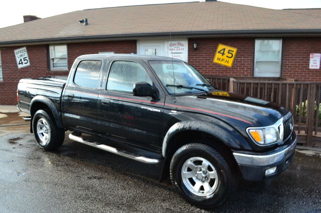
{"label": "pickup's front wheel with black tire and silver rim, nearest the camera", "polygon": [[221,205],[237,185],[227,160],[203,143],[180,147],[172,157],[170,176],[183,198],[206,209]]}

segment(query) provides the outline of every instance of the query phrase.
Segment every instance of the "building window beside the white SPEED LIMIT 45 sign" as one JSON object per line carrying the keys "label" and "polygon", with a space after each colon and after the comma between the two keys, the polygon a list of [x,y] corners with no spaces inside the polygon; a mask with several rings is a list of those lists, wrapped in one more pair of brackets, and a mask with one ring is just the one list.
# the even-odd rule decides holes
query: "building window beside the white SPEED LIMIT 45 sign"
{"label": "building window beside the white SPEED LIMIT 45 sign", "polygon": [[50,45],[50,69],[51,70],[68,70],[67,63],[67,45],[59,44],[59,45]]}

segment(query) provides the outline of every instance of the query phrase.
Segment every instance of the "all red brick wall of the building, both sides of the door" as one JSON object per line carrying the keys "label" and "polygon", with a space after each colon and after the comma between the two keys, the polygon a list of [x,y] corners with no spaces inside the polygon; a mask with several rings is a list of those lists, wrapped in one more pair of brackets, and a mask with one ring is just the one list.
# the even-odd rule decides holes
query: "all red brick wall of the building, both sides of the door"
{"label": "all red brick wall of the building, both sides of the door", "polygon": [[[197,41],[197,51],[193,48]],[[308,69],[309,54],[321,52],[320,38],[283,38],[283,77],[302,81],[321,81],[321,69]],[[218,43],[238,48],[231,68],[213,63],[213,57]],[[190,38],[189,63],[203,74],[217,76],[253,76],[255,38]],[[47,64],[48,45],[27,46],[31,65],[17,68],[14,47],[0,47],[3,78],[0,82],[0,104],[16,104],[16,89],[21,78],[50,75],[68,75],[68,71],[49,71]],[[98,53],[99,51],[114,51],[115,53],[136,53],[136,40],[87,42],[68,44],[68,67],[76,57],[82,54]]]}

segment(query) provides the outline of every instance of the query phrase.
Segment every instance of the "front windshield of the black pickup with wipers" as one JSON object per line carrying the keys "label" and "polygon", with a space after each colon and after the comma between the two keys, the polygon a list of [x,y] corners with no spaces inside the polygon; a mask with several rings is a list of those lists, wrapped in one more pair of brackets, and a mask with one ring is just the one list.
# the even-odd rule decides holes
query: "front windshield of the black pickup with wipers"
{"label": "front windshield of the black pickup with wipers", "polygon": [[208,91],[213,88],[210,82],[188,63],[155,60],[149,61],[149,64],[170,94]]}

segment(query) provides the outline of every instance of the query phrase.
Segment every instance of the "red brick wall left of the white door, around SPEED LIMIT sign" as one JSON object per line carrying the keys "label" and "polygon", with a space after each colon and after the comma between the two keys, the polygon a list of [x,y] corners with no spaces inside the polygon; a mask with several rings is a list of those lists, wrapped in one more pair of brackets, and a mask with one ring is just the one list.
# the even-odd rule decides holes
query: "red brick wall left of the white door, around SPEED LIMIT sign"
{"label": "red brick wall left of the white door, around SPEED LIMIT sign", "polygon": [[[47,62],[48,45],[27,45],[30,66],[18,69],[14,49],[22,46],[0,47],[3,81],[0,81],[0,104],[17,104],[17,85],[21,78],[68,75],[68,71],[50,71]],[[136,53],[136,40],[108,41],[68,44],[68,68],[75,58],[82,54],[114,51],[115,53]]]}

